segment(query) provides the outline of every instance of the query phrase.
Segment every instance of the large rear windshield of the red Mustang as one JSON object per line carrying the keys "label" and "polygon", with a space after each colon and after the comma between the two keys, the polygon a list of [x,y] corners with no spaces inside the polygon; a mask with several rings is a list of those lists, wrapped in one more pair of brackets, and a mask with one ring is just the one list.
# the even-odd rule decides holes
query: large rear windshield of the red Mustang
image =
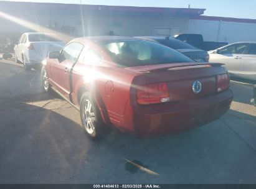
{"label": "large rear windshield of the red Mustang", "polygon": [[121,67],[194,62],[176,50],[146,40],[118,40],[102,45]]}

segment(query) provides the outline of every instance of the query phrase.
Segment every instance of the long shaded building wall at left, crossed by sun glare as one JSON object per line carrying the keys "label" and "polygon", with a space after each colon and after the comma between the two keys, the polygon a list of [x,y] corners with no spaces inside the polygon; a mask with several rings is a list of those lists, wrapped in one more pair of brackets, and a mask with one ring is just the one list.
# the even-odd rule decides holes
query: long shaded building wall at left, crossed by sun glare
{"label": "long shaded building wall at left, crossed by sun glare", "polygon": [[4,25],[0,27],[0,40],[8,37],[16,42],[24,32],[46,32],[46,29],[67,35],[67,41],[83,34],[166,36],[187,32],[190,17],[204,11],[155,9],[0,1],[0,25]]}

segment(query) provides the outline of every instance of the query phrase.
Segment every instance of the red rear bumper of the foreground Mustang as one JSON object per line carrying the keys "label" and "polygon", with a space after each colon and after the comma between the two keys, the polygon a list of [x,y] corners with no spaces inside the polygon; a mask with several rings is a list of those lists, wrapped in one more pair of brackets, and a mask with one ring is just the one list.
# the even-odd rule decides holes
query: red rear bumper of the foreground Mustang
{"label": "red rear bumper of the foreground Mustang", "polygon": [[[134,111],[135,135],[142,138],[164,136],[198,127],[225,114],[232,102],[231,90],[200,99],[151,106]],[[143,110],[144,109],[144,110]]]}

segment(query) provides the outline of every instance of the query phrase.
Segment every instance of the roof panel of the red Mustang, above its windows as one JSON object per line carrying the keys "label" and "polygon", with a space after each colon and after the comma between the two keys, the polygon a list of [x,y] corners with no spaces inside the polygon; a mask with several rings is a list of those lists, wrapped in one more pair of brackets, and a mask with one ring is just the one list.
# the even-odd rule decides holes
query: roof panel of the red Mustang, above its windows
{"label": "roof panel of the red Mustang, above its windows", "polygon": [[79,37],[73,40],[79,40],[81,42],[86,42],[87,40],[95,42],[97,44],[101,44],[107,41],[115,41],[115,40],[141,40],[136,39],[135,37],[125,37],[125,36],[115,36],[115,35],[102,35],[102,36],[90,36],[90,37]]}

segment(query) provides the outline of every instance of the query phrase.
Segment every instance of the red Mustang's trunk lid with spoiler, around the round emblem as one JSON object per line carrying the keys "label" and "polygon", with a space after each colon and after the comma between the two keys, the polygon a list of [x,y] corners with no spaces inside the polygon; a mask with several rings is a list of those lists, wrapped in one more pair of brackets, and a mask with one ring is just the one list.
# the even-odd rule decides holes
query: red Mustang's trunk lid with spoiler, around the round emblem
{"label": "red Mustang's trunk lid with spoiler, around the round emblem", "polygon": [[[134,71],[144,73],[135,85],[166,82],[170,101],[201,98],[217,93],[216,77],[226,73],[222,64],[218,63],[171,63],[169,65],[152,65],[133,67]],[[196,93],[193,84],[201,83],[201,91]],[[196,84],[195,84],[196,85]]]}

